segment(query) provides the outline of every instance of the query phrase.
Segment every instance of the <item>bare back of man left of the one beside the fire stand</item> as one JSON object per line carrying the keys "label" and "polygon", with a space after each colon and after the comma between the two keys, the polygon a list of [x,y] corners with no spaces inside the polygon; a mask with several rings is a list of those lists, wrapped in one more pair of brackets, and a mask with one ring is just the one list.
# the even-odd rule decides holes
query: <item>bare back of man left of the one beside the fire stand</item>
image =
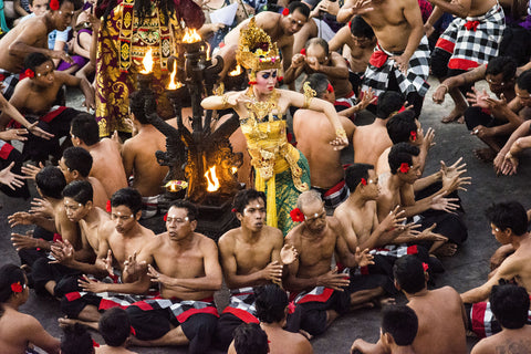
{"label": "bare back of man left of the one beside the fire stand", "polygon": [[88,146],[88,153],[91,153],[93,159],[91,176],[102,183],[107,196],[127,187],[124,164],[116,143],[110,138],[103,138]]}

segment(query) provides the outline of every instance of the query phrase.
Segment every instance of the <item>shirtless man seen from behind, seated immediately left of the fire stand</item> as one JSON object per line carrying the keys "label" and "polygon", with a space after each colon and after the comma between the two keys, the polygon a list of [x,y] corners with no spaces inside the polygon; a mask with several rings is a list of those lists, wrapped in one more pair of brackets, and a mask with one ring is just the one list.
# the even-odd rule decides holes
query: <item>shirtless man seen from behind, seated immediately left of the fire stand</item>
{"label": "shirtless man seen from behind, seated immediately left of the fire stand", "polygon": [[144,111],[146,100],[153,100],[153,96],[146,97],[142,91],[129,95],[131,119],[138,133],[122,146],[125,176],[133,177],[132,187],[142,195],[142,218],[157,214],[163,180],[169,170],[167,166],[160,166],[155,157],[157,150],[166,150],[166,136],[147,121]]}

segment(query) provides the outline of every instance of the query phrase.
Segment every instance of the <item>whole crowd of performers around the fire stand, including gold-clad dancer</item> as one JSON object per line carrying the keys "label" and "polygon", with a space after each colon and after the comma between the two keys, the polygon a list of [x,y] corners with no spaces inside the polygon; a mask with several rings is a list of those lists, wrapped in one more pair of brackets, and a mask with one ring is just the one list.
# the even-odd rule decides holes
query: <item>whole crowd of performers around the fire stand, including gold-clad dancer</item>
{"label": "whole crowd of performers around the fire stand, including gold-clad dancer", "polygon": [[[367,306],[384,306],[379,340],[352,353],[467,353],[467,332],[486,337],[472,353],[531,352],[531,212],[519,202],[486,211],[502,246],[482,285],[428,290],[467,240],[459,194],[471,178],[461,159],[424,174],[435,132],[421,127],[433,74],[428,100],[455,102],[442,123],[466,123],[486,144],[478,158],[517,173],[531,142],[529,1],[235,1],[232,25],[209,23],[228,0],[40,2],[0,39],[0,188],[28,199],[33,180],[40,195],[8,218],[34,228],[11,235],[22,267],[0,268],[1,353],[312,353],[313,336]],[[227,112],[240,122],[230,139],[248,188],[232,202],[240,227],[217,241],[196,232],[187,200],[163,233],[140,223],[163,223],[168,167],[136,74],[152,50],[157,113],[177,127],[164,86],[185,27],[223,60],[201,101],[212,129]],[[248,86],[223,92],[237,65]],[[88,113],[65,106],[64,86]],[[223,283],[226,308],[214,298]],[[62,341],[18,311],[30,288],[60,301]],[[394,304],[400,292],[407,306]]]}

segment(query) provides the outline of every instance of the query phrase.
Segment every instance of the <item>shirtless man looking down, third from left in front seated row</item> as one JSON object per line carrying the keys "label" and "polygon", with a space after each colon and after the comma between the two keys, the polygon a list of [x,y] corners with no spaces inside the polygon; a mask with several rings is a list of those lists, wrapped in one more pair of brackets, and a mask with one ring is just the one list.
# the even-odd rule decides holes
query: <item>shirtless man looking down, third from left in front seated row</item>
{"label": "shirtless man looking down, third from left in front seated row", "polygon": [[97,330],[101,311],[144,300],[142,295],[149,289],[146,264],[142,262],[145,260],[136,259],[136,254],[155,238],[152,230],[138,223],[142,196],[133,188],[118,189],[111,198],[111,221],[107,222],[114,228],[98,235],[94,263],[110,277],[105,281],[80,278],[80,290],[66,293],[61,299],[61,310],[70,319],[79,320],[60,319],[60,323],[79,321]]}

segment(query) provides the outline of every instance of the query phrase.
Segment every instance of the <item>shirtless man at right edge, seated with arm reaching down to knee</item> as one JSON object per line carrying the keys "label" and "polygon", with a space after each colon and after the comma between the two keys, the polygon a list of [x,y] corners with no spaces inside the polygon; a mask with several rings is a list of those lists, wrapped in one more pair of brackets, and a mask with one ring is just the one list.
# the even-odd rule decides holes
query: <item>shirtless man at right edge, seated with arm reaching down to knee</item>
{"label": "shirtless man at right edge, seated with arm reaching down to knee", "polygon": [[[489,315],[489,303],[486,302],[492,290],[501,279],[514,280],[531,294],[531,233],[528,230],[528,216],[523,206],[517,201],[499,202],[487,209],[494,238],[514,251],[489,274],[489,280],[461,294],[467,308],[471,330],[480,337],[489,336],[501,331],[497,321]],[[502,246],[502,247],[503,247]]]}

